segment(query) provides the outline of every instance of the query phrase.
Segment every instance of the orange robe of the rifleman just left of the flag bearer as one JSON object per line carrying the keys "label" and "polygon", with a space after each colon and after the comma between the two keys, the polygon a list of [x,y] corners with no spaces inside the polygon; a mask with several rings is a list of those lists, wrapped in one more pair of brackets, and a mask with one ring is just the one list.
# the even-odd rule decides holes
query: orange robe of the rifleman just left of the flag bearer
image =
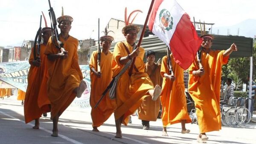
{"label": "orange robe of the rifleman just left of the flag bearer", "polygon": [[[108,51],[108,55],[105,55],[104,52],[101,52],[101,60],[100,60],[100,68],[102,72],[102,77],[98,78],[93,72],[90,72],[90,80],[91,80],[91,92],[90,92],[90,106],[91,109],[91,117],[93,120],[93,127],[101,126],[114,112],[116,109],[116,100],[109,98],[109,93],[105,95],[99,105],[94,109],[96,103],[102,96],[102,93],[107,88],[108,84],[112,80],[113,72],[111,70],[111,62],[112,62],[113,54]],[[94,51],[90,58],[90,69],[97,69],[97,60],[98,60],[98,52]]]}

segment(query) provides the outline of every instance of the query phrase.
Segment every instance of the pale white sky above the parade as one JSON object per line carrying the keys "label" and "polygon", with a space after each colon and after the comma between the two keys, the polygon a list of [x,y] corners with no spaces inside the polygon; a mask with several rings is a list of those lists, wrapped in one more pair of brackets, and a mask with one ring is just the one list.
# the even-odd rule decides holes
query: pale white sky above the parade
{"label": "pale white sky above the parade", "polygon": [[[247,19],[256,19],[256,0],[177,0],[189,14],[214,27],[233,26]],[[64,14],[73,17],[70,35],[77,39],[97,39],[97,22],[101,31],[111,17],[124,20],[128,13],[140,9],[134,23],[143,24],[151,0],[51,0],[56,17]],[[20,46],[23,40],[33,40],[39,27],[41,11],[50,25],[48,0],[0,0],[0,46]],[[42,23],[44,27],[44,23]],[[93,32],[94,30],[94,32]],[[103,35],[103,34],[102,34]]]}

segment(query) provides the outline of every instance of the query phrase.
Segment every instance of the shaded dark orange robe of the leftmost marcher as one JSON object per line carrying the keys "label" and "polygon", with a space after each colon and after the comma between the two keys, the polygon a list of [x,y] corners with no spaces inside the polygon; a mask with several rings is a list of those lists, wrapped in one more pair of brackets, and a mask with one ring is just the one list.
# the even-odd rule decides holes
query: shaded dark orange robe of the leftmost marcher
{"label": "shaded dark orange robe of the leftmost marcher", "polygon": [[[29,74],[28,74],[28,87],[26,89],[26,97],[24,101],[24,117],[25,122],[29,123],[34,119],[40,118],[42,113],[50,112],[49,109],[49,100],[47,98],[46,90],[41,91],[42,80],[46,77],[45,72],[47,72],[46,66],[46,55],[44,55],[44,51],[46,49],[46,45],[41,44],[40,46],[40,55],[37,55],[41,59],[41,65],[39,67],[33,66],[32,61],[34,60],[34,48],[31,49],[31,54],[29,57]],[[38,49],[36,48],[36,51]],[[44,84],[46,85],[46,84]],[[41,95],[41,96],[40,96]],[[47,98],[48,102],[44,103],[44,108],[39,107],[43,101],[40,98]]]}

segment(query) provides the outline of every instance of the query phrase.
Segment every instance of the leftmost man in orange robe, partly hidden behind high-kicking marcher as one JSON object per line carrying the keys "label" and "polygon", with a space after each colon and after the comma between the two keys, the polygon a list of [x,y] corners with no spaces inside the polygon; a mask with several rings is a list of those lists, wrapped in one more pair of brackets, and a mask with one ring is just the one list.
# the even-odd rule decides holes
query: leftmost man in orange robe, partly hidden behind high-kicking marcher
{"label": "leftmost man in orange robe, partly hidden behind high-kicking marcher", "polygon": [[[39,129],[39,118],[42,113],[50,112],[50,102],[46,94],[47,91],[46,89],[42,89],[46,87],[46,83],[42,82],[44,79],[47,79],[47,56],[44,55],[44,51],[49,37],[51,36],[51,28],[44,27],[42,34],[44,43],[40,45],[40,54],[36,54],[36,59],[34,59],[34,48],[31,49],[28,87],[24,104],[25,123],[27,124],[35,120],[35,126],[32,127],[33,129]],[[36,52],[38,52],[37,47]]]}

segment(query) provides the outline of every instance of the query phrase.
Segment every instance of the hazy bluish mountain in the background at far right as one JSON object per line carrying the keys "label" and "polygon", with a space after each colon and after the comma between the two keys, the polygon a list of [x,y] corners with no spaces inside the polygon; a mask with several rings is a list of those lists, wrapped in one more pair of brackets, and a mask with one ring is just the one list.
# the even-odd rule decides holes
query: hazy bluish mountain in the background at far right
{"label": "hazy bluish mountain in the background at far right", "polygon": [[247,19],[233,26],[212,27],[212,34],[215,35],[239,35],[254,37],[256,35],[256,20]]}

